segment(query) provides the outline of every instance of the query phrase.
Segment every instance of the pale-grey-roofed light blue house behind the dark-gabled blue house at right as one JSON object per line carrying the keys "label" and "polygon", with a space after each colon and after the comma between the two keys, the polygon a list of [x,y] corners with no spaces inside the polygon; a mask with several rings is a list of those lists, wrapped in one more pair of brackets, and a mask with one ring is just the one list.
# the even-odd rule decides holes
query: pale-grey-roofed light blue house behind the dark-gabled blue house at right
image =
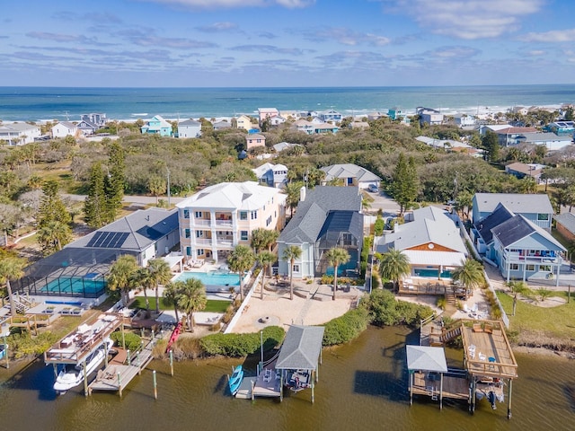
{"label": "pale-grey-roofed light blue house behind the dark-gabled blue house at right", "polygon": [[473,196],[473,224],[477,225],[503,204],[514,214],[525,216],[535,225],[551,231],[553,206],[546,194],[476,193]]}

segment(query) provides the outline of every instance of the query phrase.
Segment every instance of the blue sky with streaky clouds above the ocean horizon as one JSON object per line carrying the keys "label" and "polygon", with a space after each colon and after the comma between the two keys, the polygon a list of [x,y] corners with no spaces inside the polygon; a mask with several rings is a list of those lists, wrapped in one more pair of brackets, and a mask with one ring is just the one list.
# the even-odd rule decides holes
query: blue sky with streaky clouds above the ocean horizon
{"label": "blue sky with streaky clouds above the ocean horizon", "polygon": [[0,0],[0,85],[575,83],[572,0]]}

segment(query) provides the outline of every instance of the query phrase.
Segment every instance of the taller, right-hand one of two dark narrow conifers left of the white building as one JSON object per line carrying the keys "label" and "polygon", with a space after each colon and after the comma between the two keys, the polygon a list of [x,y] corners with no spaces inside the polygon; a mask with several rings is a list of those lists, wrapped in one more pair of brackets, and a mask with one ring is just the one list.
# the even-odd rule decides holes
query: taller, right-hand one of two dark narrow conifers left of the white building
{"label": "taller, right-hand one of two dark narrow conifers left of the white building", "polygon": [[108,169],[110,174],[104,179],[104,194],[106,196],[105,221],[116,220],[118,210],[124,198],[126,162],[124,150],[118,142],[112,142],[108,151]]}

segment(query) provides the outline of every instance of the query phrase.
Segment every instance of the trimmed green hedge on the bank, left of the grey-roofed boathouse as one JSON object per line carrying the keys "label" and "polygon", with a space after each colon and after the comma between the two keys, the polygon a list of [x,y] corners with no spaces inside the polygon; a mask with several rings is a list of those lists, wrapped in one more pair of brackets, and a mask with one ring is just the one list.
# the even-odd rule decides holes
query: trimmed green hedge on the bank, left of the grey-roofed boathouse
{"label": "trimmed green hedge on the bank, left of the grey-roofed boathouse", "polygon": [[[263,348],[279,346],[286,335],[279,326],[268,326],[263,329]],[[259,332],[250,334],[212,334],[200,339],[201,348],[207,355],[247,356],[257,352],[261,346]]]}

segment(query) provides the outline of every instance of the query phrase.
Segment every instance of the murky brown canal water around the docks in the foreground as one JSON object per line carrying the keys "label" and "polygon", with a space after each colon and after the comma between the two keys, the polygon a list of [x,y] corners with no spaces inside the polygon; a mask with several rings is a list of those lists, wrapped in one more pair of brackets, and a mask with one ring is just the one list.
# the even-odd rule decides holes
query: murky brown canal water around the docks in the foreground
{"label": "murky brown canal water around the docks in the foreground", "polygon": [[[52,367],[39,360],[5,380],[0,372],[0,429],[5,430],[568,430],[575,427],[575,363],[556,356],[517,355],[513,418],[507,400],[492,410],[487,400],[469,414],[466,403],[416,398],[409,404],[403,328],[369,328],[352,343],[323,350],[315,403],[310,391],[279,400],[235,400],[226,374],[238,360],[169,365],[153,362],[124,391],[94,393],[83,387],[57,396]],[[448,351],[456,365],[460,354]],[[151,369],[156,370],[154,400]]]}

